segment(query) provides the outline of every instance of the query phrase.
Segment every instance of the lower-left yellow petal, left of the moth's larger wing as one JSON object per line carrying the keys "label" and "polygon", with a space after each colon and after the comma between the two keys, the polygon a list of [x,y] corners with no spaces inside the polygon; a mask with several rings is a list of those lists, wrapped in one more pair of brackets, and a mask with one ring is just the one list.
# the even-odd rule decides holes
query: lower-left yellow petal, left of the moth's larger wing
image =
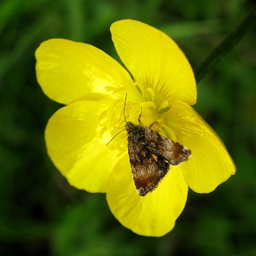
{"label": "lower-left yellow petal, left of the moth's larger wing", "polygon": [[117,158],[106,146],[110,137],[99,137],[97,102],[76,102],[59,109],[45,130],[48,154],[69,183],[89,192],[105,192]]}

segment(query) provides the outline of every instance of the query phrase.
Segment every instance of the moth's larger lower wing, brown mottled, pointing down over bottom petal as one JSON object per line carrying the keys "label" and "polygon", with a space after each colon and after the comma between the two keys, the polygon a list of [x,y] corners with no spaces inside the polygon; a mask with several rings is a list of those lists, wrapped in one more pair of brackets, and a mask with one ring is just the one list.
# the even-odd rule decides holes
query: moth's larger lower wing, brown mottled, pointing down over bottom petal
{"label": "moth's larger lower wing, brown mottled, pointing down over bottom petal", "polygon": [[162,157],[150,152],[139,143],[128,143],[133,180],[141,196],[156,189],[161,179],[166,176],[170,165]]}

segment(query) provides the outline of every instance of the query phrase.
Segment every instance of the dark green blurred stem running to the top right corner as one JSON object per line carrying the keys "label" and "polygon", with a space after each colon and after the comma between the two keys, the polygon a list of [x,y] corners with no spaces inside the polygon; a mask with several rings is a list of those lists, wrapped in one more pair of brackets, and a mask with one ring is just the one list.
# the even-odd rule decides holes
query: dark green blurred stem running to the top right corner
{"label": "dark green blurred stem running to the top right corner", "polygon": [[212,68],[217,65],[218,61],[224,58],[224,55],[228,54],[231,49],[240,41],[240,39],[246,34],[253,23],[256,20],[256,7],[247,14],[244,20],[236,27],[236,29],[230,33],[230,35],[224,39],[224,41],[218,45],[216,49],[213,49],[207,59],[201,63],[199,67],[195,68],[195,79],[198,83]]}

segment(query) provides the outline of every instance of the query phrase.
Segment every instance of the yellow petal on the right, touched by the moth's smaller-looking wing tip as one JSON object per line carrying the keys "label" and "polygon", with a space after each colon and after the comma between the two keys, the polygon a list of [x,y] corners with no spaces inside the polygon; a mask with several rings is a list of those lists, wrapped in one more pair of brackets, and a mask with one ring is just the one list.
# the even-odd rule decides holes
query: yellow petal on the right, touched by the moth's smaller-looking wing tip
{"label": "yellow petal on the right, touched by the moth's smaller-looking wing tip", "polygon": [[224,144],[193,108],[176,102],[172,105],[169,122],[173,124],[177,142],[192,151],[189,160],[180,165],[190,189],[209,193],[236,173]]}

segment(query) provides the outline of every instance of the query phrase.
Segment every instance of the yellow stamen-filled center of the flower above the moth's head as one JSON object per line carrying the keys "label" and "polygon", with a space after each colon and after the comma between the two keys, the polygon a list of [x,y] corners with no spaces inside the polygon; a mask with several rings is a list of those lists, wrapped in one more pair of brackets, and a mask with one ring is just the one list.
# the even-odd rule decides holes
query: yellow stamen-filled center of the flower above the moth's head
{"label": "yellow stamen-filled center of the flower above the moth's head", "polygon": [[[127,94],[126,102],[125,94]],[[157,122],[158,125],[155,125],[158,128],[157,131],[164,136],[170,135],[170,132],[172,133],[172,131],[166,131],[164,128],[166,126],[166,113],[171,105],[163,86],[153,87],[150,84],[135,82],[132,87],[116,92],[115,96],[117,98],[109,102],[108,110],[102,113],[102,116],[107,118],[102,122],[101,134],[106,135],[106,132],[108,132],[108,141],[119,131],[125,129],[125,119],[127,122],[131,121],[138,124],[140,114],[143,126],[148,127],[153,122]],[[114,148],[119,148],[119,150],[126,150],[126,132],[121,132],[117,137],[114,137],[110,144]]]}

